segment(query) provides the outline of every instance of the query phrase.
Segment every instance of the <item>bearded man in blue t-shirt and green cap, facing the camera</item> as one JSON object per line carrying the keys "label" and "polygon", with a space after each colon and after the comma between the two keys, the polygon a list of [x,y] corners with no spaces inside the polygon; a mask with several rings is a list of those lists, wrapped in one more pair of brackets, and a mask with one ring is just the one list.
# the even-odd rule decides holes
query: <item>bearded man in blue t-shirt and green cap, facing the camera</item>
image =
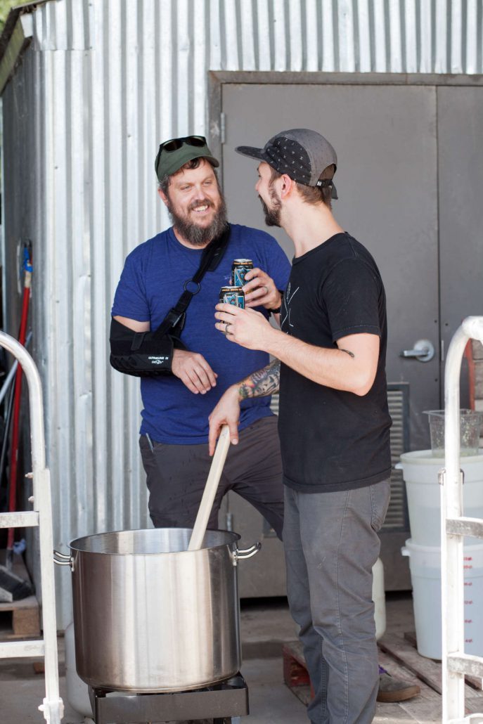
{"label": "bearded man in blue t-shirt and green cap, facing the camera", "polygon": [[[219,166],[202,136],[162,143],[156,156],[158,193],[172,227],[127,256],[112,316],[135,332],[159,327],[213,240],[229,230],[216,269],[206,271],[193,296],[175,348],[171,374],[141,379],[140,451],[156,527],[192,528],[209,473],[208,417],[219,397],[240,376],[269,362],[266,353],[232,345],[217,332],[213,309],[221,287],[230,285],[232,261],[253,260],[245,278],[245,305],[266,319],[280,311],[290,264],[266,232],[227,224],[215,172]],[[281,536],[282,467],[277,422],[269,397],[247,400],[240,413],[240,442],[230,448],[209,528],[216,529],[222,497],[229,490],[251,502]]]}

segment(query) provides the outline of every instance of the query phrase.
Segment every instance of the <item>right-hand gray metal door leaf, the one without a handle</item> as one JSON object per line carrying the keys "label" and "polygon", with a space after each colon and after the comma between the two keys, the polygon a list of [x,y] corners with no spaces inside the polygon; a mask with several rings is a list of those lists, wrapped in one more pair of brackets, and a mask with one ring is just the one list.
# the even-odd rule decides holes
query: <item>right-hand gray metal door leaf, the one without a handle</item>
{"label": "right-hand gray metal door leaf, the one without a handle", "polygon": [[[483,314],[483,88],[438,88],[437,116],[441,338],[447,350],[461,320]],[[462,376],[464,386],[464,368]]]}

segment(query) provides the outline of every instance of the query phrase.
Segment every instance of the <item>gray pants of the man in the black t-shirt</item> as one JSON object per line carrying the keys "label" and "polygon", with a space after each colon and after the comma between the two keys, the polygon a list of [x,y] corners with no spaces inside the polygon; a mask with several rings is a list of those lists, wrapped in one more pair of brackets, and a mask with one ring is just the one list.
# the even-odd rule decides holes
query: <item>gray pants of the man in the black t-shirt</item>
{"label": "gray pants of the man in the black t-shirt", "polygon": [[285,488],[287,595],[315,696],[312,724],[369,724],[379,684],[372,566],[390,484],[337,493]]}

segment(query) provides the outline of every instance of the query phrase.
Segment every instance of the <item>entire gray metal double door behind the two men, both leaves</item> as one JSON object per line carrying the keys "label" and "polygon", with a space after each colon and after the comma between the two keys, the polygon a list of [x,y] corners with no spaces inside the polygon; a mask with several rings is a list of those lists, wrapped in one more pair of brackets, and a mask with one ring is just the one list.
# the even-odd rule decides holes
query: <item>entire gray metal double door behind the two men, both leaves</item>
{"label": "entire gray metal double door behind the two men, both leaves", "polygon": [[[463,316],[482,313],[483,164],[475,159],[482,154],[482,88],[230,83],[222,86],[222,111],[224,193],[232,222],[264,227],[253,188],[256,161],[238,156],[235,146],[261,146],[290,127],[319,130],[335,146],[335,216],[374,255],[387,292],[392,452],[397,458],[407,449],[406,418],[411,449],[429,447],[423,411],[442,404],[440,339],[448,345]],[[291,258],[285,232],[269,231]],[[429,361],[402,356],[421,340],[434,347]],[[253,515],[238,500],[228,505],[235,529],[256,536]],[[389,590],[410,587],[400,556],[408,537],[403,510],[403,484],[395,472],[382,534]],[[282,594],[283,574],[278,584],[265,585],[266,571],[277,568],[283,568],[281,551],[274,552],[271,542],[266,560],[260,556],[251,567],[251,581],[240,571],[241,594]]]}

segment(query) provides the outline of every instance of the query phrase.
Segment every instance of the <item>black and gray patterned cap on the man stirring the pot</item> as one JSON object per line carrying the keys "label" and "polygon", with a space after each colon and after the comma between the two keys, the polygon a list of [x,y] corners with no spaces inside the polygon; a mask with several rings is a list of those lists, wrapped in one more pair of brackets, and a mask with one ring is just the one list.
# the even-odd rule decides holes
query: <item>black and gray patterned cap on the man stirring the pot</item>
{"label": "black and gray patterned cap on the man stirring the pot", "polygon": [[327,138],[316,131],[292,128],[274,135],[264,148],[238,146],[235,151],[266,161],[280,174],[306,186],[332,186],[332,198],[337,198],[332,179],[319,180],[328,166],[334,164],[337,169],[337,154]]}

